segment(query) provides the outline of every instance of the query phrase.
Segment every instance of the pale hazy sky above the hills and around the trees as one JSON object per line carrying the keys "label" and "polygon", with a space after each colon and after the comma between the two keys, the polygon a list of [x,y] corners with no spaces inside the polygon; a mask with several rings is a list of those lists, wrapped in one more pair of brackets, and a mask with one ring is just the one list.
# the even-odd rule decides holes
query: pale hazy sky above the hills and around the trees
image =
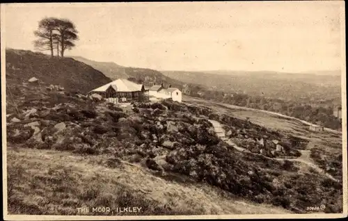
{"label": "pale hazy sky above the hills and around the trees", "polygon": [[342,67],[342,13],[343,1],[255,1],[26,3],[3,15],[6,47],[15,49],[33,50],[38,21],[61,17],[80,38],[65,56],[162,70],[306,72]]}

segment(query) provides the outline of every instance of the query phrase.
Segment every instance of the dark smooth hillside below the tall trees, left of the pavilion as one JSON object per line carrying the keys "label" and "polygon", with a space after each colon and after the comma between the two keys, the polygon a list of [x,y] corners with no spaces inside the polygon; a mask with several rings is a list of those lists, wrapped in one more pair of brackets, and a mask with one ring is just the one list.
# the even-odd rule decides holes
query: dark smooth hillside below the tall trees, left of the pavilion
{"label": "dark smooth hillside below the tall trees, left of the pavilion", "polygon": [[111,81],[102,72],[72,58],[51,58],[32,51],[6,49],[6,80],[26,81],[33,76],[81,93]]}

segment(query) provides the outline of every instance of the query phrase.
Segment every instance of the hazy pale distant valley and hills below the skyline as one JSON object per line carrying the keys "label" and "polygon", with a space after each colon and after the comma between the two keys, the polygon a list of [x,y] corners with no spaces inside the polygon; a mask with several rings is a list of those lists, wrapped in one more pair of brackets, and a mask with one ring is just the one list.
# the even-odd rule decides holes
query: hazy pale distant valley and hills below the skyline
{"label": "hazy pale distant valley and hills below the skyline", "polygon": [[210,90],[241,92],[277,99],[336,99],[340,101],[340,75],[291,74],[276,72],[183,72],[162,71],[187,83],[205,85]]}

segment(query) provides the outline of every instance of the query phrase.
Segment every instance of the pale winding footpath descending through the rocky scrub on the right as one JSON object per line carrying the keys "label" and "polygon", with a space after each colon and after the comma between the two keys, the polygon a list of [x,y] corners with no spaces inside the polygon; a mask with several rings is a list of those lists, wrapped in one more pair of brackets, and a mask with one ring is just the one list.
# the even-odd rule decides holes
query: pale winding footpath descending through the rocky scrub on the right
{"label": "pale winding footpath descending through the rocky scrub on the right", "polygon": [[264,156],[262,154],[252,153],[248,149],[245,149],[243,147],[238,147],[238,145],[236,145],[235,142],[232,142],[232,140],[228,139],[226,137],[226,131],[222,128],[220,122],[217,122],[216,120],[209,120],[209,122],[211,122],[212,125],[214,126],[214,131],[216,133],[216,136],[218,136],[221,140],[226,142],[228,145],[237,149],[237,151],[239,151],[239,152],[248,152],[248,153],[263,156],[264,158],[269,158],[269,159],[275,160],[275,161],[287,160],[287,161],[297,161],[299,163],[304,163],[304,164],[308,165],[309,167],[312,167],[317,172],[325,174],[326,177],[328,177],[329,179],[332,179],[333,181],[338,181],[337,179],[333,178],[331,176],[331,174],[326,173],[324,170],[322,170],[322,168],[320,168],[319,166],[315,165],[314,163],[311,163],[310,161],[308,161],[308,159],[310,158],[310,156],[309,156],[310,151],[309,150],[300,150],[301,156],[299,158],[271,158],[269,156]]}

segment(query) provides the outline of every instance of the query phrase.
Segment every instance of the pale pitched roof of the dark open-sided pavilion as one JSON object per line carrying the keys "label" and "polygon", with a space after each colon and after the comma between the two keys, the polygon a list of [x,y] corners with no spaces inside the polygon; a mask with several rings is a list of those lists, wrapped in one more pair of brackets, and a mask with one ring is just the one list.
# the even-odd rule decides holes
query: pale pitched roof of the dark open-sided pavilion
{"label": "pale pitched roof of the dark open-sided pavilion", "polygon": [[90,92],[104,92],[110,86],[112,86],[112,88],[115,89],[117,92],[141,91],[141,88],[143,88],[142,84],[137,84],[132,81],[128,81],[127,79],[117,79],[116,81],[106,83],[106,85],[102,85],[99,88],[95,88]]}

